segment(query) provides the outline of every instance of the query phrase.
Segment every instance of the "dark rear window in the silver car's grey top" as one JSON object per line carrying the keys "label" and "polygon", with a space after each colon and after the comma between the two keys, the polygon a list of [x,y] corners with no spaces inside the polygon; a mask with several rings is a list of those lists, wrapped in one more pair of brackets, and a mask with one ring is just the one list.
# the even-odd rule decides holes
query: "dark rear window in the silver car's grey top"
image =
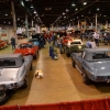
{"label": "dark rear window in the silver car's grey top", "polygon": [[14,59],[0,59],[0,67],[15,66]]}

